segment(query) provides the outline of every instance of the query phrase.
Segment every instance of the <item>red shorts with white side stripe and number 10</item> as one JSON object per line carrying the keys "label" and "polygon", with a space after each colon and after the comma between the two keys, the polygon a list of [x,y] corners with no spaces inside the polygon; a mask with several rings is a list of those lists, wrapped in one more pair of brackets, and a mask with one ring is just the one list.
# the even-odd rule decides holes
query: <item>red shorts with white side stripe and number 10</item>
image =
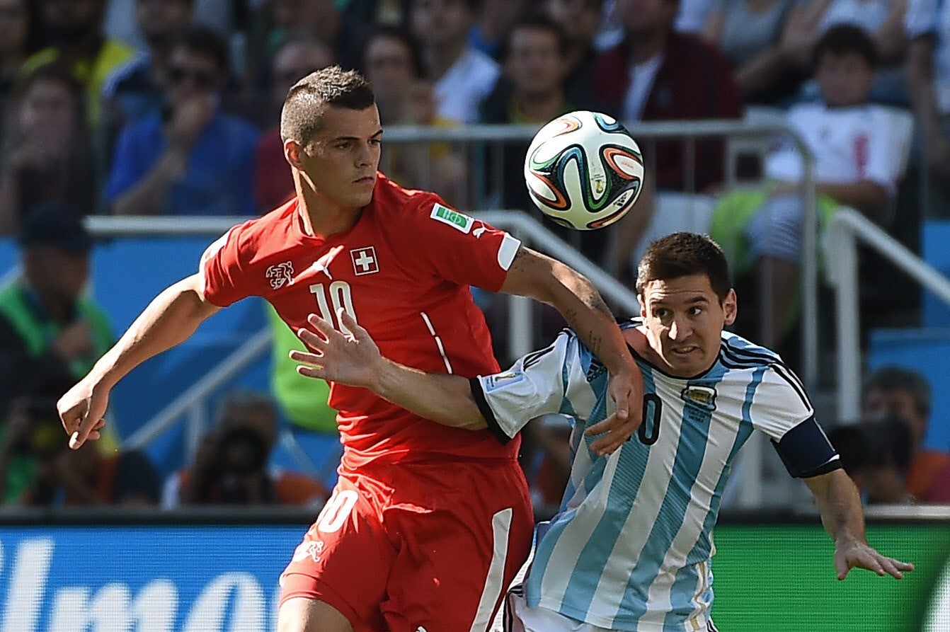
{"label": "red shorts with white side stripe and number 10", "polygon": [[345,472],[280,576],[280,602],[329,603],[355,632],[484,632],[533,527],[515,461]]}

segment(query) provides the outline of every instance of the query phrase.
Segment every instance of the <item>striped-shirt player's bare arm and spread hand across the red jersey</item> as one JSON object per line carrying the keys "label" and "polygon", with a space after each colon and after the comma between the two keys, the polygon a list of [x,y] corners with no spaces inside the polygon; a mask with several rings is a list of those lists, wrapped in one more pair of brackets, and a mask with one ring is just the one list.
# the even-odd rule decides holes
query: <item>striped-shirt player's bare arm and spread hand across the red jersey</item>
{"label": "striped-shirt player's bare arm and spread hand across the red jersey", "polygon": [[472,431],[487,428],[465,377],[424,373],[392,362],[379,353],[370,333],[345,310],[337,310],[336,317],[349,334],[336,331],[315,314],[308,317],[314,331],[297,332],[311,350],[290,353],[293,360],[302,363],[297,367],[298,373],[369,389],[443,426]]}

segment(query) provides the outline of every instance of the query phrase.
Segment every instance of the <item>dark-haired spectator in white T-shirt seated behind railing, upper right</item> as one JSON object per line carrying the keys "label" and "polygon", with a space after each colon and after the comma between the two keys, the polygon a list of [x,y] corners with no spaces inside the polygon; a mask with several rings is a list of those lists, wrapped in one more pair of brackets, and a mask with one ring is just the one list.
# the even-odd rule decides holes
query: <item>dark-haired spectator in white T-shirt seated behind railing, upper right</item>
{"label": "dark-haired spectator in white T-shirt seated behind railing, upper right", "polygon": [[[814,157],[820,218],[839,205],[879,218],[900,176],[902,139],[891,124],[892,110],[868,103],[877,66],[874,42],[858,27],[833,27],[819,40],[814,60],[824,103],[795,105],[787,117]],[[801,156],[790,145],[775,150],[766,161],[769,188],[730,194],[713,218],[713,239],[727,244],[736,274],[754,271],[758,287],[768,288],[760,320],[772,345],[797,316],[802,172]]]}

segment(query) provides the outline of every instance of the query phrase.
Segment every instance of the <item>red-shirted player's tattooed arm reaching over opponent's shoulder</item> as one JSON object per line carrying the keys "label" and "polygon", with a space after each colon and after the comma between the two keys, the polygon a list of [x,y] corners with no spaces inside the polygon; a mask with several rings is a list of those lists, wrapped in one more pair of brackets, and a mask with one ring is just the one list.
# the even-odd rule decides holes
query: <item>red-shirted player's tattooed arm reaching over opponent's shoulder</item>
{"label": "red-shirted player's tattooed arm reaching over opponent's shoulder", "polygon": [[643,418],[643,375],[597,288],[561,261],[522,246],[508,268],[502,292],[532,297],[555,307],[607,367],[611,376],[608,393],[617,412],[599,424],[600,431],[610,430],[591,444],[591,450],[601,455],[617,450]]}

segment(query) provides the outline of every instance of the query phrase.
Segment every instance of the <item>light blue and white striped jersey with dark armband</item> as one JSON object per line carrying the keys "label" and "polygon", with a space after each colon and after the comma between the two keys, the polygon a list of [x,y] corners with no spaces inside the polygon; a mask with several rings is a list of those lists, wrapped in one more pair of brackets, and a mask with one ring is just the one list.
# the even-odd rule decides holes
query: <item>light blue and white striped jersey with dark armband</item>
{"label": "light blue and white striped jersey with dark armband", "polygon": [[778,443],[813,426],[792,436],[817,435],[826,445],[789,441],[782,454],[797,473],[836,469],[838,457],[814,424],[801,382],[767,349],[724,332],[715,364],[689,379],[637,362],[644,422],[609,457],[586,450],[593,439],[583,436],[613,412],[607,372],[572,332],[504,373],[473,379],[473,393],[503,440],[543,413],[575,419],[571,479],[558,514],[538,527],[527,603],[612,630],[705,630],[712,527],[750,433]]}

